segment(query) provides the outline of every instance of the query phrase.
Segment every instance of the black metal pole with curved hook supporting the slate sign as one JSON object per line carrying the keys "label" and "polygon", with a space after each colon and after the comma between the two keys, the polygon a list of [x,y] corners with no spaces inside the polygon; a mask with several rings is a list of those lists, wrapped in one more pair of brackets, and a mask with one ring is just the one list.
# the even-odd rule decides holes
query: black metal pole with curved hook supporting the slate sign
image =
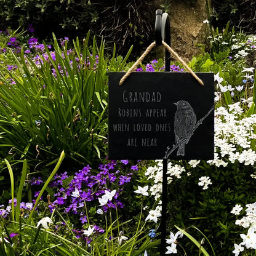
{"label": "black metal pole with curved hook supporting the slate sign", "polygon": [[[168,14],[162,14],[162,10],[156,10],[155,41],[160,46],[162,41],[170,46],[170,21]],[[166,49],[166,72],[170,71],[170,53]],[[167,222],[167,166],[168,160],[163,159],[162,164],[162,217],[161,217],[161,247],[160,255],[166,252],[166,222]]]}

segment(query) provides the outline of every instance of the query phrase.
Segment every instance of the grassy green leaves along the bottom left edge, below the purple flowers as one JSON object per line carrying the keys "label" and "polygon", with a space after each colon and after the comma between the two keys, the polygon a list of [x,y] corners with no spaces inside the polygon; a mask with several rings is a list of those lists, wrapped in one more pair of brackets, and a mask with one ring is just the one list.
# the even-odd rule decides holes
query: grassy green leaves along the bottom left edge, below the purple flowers
{"label": "grassy green leaves along the bottom left edge, below the purple flowers", "polygon": [[[159,245],[159,239],[150,239],[148,234],[145,233],[146,222],[142,220],[142,210],[138,216],[135,231],[130,231],[127,227],[132,220],[120,222],[118,210],[113,210],[105,214],[105,232],[100,234],[94,232],[89,234],[88,237],[77,236],[78,230],[75,230],[74,225],[68,218],[68,214],[63,216],[59,212],[59,207],[55,207],[52,212],[49,212],[50,196],[47,196],[48,202],[45,203],[41,200],[42,193],[49,185],[57,170],[60,168],[65,153],[60,154],[58,162],[49,175],[48,180],[44,183],[41,193],[34,203],[34,207],[30,210],[28,217],[23,216],[24,210],[20,210],[21,191],[20,188],[24,185],[24,177],[27,172],[26,159],[23,161],[22,180],[18,189],[18,194],[15,194],[14,186],[12,186],[12,221],[8,218],[0,216],[0,252],[1,255],[123,255],[123,256],[139,256],[145,250],[155,251]],[[14,183],[14,176],[12,167],[6,160],[10,172],[10,179]],[[17,183],[17,180],[15,181]],[[25,192],[25,191],[24,191]],[[15,196],[14,196],[15,194]],[[17,198],[17,206],[14,206],[14,198]],[[86,205],[86,202],[84,201]],[[35,210],[37,209],[37,210]],[[89,215],[90,222],[92,219],[98,222],[96,216],[96,207],[91,207],[89,215],[87,215],[88,225]],[[15,218],[17,216],[18,218]],[[115,218],[115,219],[114,219]],[[44,228],[41,225],[36,225],[39,220],[50,220],[50,223]],[[88,225],[83,225],[82,230],[86,230]],[[127,232],[124,234],[124,230]],[[126,237],[124,235],[129,236]],[[90,236],[90,237],[89,237]],[[154,255],[159,255],[157,252]]]}

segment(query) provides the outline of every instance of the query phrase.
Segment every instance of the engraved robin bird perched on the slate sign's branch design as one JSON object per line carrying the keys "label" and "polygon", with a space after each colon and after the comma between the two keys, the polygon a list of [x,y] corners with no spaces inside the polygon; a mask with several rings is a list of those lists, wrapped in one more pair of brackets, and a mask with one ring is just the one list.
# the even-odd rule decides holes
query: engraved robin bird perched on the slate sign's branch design
{"label": "engraved robin bird perched on the slate sign's branch design", "polygon": [[182,142],[178,146],[177,156],[184,156],[185,144],[188,144],[190,141],[194,126],[196,125],[196,114],[190,103],[185,100],[180,100],[174,104],[177,106],[174,116],[175,142],[176,144]]}

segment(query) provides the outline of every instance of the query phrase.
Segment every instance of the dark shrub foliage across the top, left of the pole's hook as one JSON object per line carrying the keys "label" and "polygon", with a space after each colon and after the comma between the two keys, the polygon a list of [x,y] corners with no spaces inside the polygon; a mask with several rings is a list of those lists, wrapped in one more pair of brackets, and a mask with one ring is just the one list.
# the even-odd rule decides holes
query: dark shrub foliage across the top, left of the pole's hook
{"label": "dark shrub foliage across the top, left of the pole's hook", "polygon": [[0,0],[0,29],[27,30],[32,24],[41,40],[52,32],[57,38],[82,39],[91,30],[110,49],[118,42],[118,53],[125,54],[131,45],[140,52],[153,39],[155,9],[150,0]]}

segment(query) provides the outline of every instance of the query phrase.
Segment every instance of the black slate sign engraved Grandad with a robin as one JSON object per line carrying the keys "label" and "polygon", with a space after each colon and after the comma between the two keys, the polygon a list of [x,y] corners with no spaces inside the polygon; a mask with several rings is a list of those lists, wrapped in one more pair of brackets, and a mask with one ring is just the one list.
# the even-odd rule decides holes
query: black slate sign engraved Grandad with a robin
{"label": "black slate sign engraved Grandad with a robin", "polygon": [[109,73],[109,159],[214,159],[214,74]]}

